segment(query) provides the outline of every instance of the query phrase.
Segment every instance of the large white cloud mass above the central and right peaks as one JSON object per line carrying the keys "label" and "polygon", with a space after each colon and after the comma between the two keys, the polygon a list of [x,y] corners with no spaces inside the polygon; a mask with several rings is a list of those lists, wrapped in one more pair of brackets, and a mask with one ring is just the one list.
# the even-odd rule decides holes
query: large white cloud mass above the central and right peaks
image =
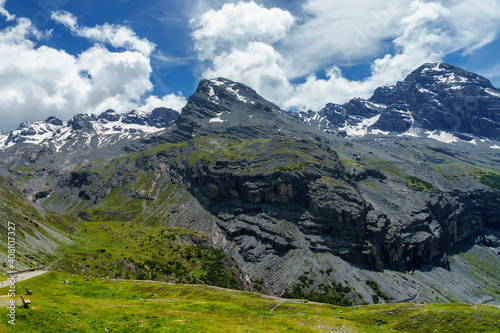
{"label": "large white cloud mass above the central and right peaks", "polygon": [[[251,25],[235,22],[234,13],[241,22],[252,22],[248,9],[257,7],[262,21],[277,20],[280,28],[240,38]],[[200,59],[209,60],[204,77],[249,84],[282,107],[299,110],[369,97],[425,62],[473,52],[500,31],[495,0],[308,0],[295,20],[280,13],[279,21],[273,13],[278,11],[253,2],[210,10],[192,22],[195,49]],[[367,59],[372,73],[364,80],[348,80],[338,67]],[[322,69],[325,77],[318,78],[314,73]]]}

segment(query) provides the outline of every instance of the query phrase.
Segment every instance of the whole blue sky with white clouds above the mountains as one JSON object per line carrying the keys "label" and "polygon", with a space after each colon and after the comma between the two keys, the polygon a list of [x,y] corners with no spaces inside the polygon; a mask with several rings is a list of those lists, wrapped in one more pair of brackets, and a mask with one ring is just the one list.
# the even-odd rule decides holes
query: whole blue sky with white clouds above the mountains
{"label": "whole blue sky with white clouds above the mountains", "polygon": [[180,110],[200,79],[289,110],[369,97],[425,62],[500,86],[497,0],[0,0],[0,129]]}

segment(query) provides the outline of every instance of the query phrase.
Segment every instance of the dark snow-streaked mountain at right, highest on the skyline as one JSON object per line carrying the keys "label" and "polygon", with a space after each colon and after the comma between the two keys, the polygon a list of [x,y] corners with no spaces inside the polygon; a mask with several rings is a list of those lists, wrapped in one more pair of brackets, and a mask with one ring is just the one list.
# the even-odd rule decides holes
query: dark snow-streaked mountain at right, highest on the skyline
{"label": "dark snow-streaked mountain at right, highest on the skyline", "polygon": [[[443,64],[425,64],[402,82],[375,90],[368,100],[328,104],[299,117],[314,126],[342,134],[347,126],[372,119],[368,129],[392,133],[442,131],[464,140],[500,138],[500,90],[486,78]],[[373,118],[379,115],[379,118]],[[422,133],[423,135],[423,133]]]}

